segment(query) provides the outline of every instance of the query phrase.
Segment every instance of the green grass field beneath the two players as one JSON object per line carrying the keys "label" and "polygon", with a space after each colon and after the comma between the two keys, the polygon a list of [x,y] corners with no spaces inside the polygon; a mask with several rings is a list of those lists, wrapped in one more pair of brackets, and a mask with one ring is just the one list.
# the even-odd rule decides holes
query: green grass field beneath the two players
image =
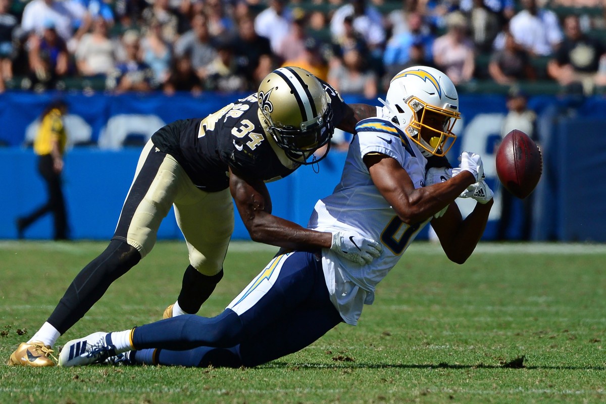
{"label": "green grass field beneath the two players", "polygon": [[[2,362],[104,247],[0,242]],[[218,314],[274,252],[234,243],[200,314]],[[160,319],[186,266],[184,243],[159,242],[58,346]],[[358,326],[299,353],[242,369],[0,365],[0,403],[598,403],[605,331],[605,245],[485,243],[458,266],[417,242]]]}

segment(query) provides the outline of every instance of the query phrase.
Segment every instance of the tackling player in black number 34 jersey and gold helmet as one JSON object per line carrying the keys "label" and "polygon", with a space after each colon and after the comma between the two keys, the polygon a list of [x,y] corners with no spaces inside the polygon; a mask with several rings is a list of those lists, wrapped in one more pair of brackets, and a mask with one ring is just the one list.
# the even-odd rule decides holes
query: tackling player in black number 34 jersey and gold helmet
{"label": "tackling player in black number 34 jersey and gold helmet", "polygon": [[380,245],[353,232],[308,230],[271,214],[265,182],[322,159],[334,128],[353,133],[376,108],[347,105],[308,71],[282,67],[259,91],[204,119],[159,129],[139,157],[118,225],[108,247],[75,277],[55,311],[9,365],[53,366],[56,340],[103,296],[110,284],[145,257],[174,205],[189,251],[178,300],[164,317],[195,314],[223,276],[233,231],[233,203],[251,239],[284,248],[331,248],[354,262],[378,257]]}

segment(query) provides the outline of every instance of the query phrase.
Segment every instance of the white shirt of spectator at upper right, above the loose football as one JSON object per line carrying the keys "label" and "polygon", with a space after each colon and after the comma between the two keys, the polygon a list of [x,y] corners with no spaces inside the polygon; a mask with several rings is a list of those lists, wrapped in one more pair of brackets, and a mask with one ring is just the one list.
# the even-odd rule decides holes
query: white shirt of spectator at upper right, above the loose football
{"label": "white shirt of spectator at upper right, above the loose football", "polygon": [[558,16],[538,8],[536,0],[522,0],[524,10],[514,15],[509,30],[515,41],[531,55],[548,56],[562,42]]}

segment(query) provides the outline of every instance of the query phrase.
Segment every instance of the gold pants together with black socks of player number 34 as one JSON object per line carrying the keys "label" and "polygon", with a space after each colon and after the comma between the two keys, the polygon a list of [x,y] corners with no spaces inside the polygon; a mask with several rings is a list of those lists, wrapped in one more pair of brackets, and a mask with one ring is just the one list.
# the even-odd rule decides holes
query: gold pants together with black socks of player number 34
{"label": "gold pants together with black socks of player number 34", "polygon": [[171,205],[187,240],[190,267],[185,270],[179,304],[195,313],[215,289],[233,231],[229,190],[207,193],[193,185],[175,159],[151,141],[139,158],[112,241],[74,278],[48,323],[61,334],[101,299],[156,243],[158,228]]}

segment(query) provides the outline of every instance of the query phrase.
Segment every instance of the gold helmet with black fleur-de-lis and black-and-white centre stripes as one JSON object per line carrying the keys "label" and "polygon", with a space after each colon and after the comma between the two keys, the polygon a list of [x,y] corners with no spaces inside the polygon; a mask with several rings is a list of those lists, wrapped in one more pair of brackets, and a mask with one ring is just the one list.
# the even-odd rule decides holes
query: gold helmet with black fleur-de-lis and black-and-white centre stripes
{"label": "gold helmet with black fleur-de-lis and black-and-white centre stripes", "polygon": [[307,161],[318,148],[328,144],[335,131],[333,111],[324,85],[299,67],[281,67],[269,73],[258,91],[259,109],[271,137],[291,160]]}

